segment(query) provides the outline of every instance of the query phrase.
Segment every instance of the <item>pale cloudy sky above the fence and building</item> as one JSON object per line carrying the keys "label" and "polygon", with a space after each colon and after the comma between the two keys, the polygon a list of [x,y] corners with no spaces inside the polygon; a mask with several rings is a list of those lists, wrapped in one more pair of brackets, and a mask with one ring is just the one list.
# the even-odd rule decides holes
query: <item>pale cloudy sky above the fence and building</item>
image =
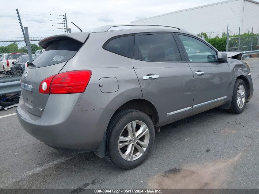
{"label": "pale cloudy sky above the fence and building", "polygon": [[[18,8],[23,26],[27,26],[30,36],[46,37],[62,32],[64,13],[72,32],[93,31],[99,26],[125,24],[177,10],[220,2],[220,0],[44,0],[2,1],[0,7],[0,38],[22,37],[15,9]],[[61,16],[59,16],[61,15]],[[59,24],[58,24],[59,23]],[[57,30],[57,31],[53,31]],[[60,32],[59,32],[60,31]]]}

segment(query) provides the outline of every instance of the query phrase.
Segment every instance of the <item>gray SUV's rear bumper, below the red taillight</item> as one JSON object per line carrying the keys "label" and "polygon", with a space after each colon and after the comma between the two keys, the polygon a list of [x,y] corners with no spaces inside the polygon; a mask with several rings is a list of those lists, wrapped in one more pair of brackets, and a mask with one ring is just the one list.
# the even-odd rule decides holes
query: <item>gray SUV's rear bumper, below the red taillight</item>
{"label": "gray SUV's rear bumper, below the red taillight", "polygon": [[50,95],[41,117],[28,112],[21,97],[17,108],[19,122],[30,135],[56,149],[69,152],[96,150],[116,110],[78,111],[80,95]]}

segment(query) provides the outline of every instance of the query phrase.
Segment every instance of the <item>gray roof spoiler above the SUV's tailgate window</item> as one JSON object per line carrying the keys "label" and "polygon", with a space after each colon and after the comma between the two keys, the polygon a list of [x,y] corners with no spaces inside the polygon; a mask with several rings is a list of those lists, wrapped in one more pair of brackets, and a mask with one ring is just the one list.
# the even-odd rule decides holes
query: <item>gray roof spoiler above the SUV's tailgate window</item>
{"label": "gray roof spoiler above the SUV's tailgate window", "polygon": [[58,40],[65,40],[65,39],[74,39],[78,42],[84,43],[89,36],[89,32],[74,32],[74,33],[67,33],[67,34],[58,34],[54,36],[49,36],[40,40],[39,45],[46,49],[50,44],[56,42]]}

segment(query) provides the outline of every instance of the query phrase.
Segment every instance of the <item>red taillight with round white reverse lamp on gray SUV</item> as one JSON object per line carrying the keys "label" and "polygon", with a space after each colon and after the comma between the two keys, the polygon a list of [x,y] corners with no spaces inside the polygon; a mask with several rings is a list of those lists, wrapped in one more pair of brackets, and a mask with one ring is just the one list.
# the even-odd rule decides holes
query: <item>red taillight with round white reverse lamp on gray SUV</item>
{"label": "red taillight with round white reverse lamp on gray SUV", "polygon": [[92,71],[76,70],[52,75],[40,82],[39,93],[68,94],[86,90]]}

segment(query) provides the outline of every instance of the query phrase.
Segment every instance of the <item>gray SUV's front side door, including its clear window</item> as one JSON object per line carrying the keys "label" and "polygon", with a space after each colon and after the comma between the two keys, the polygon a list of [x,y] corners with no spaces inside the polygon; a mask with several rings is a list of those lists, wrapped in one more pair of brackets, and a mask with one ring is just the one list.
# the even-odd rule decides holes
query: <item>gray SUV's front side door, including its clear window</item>
{"label": "gray SUV's front side door, including its clear window", "polygon": [[177,37],[194,74],[192,114],[230,100],[231,72],[227,62],[218,62],[217,51],[205,41],[181,33],[178,33]]}

